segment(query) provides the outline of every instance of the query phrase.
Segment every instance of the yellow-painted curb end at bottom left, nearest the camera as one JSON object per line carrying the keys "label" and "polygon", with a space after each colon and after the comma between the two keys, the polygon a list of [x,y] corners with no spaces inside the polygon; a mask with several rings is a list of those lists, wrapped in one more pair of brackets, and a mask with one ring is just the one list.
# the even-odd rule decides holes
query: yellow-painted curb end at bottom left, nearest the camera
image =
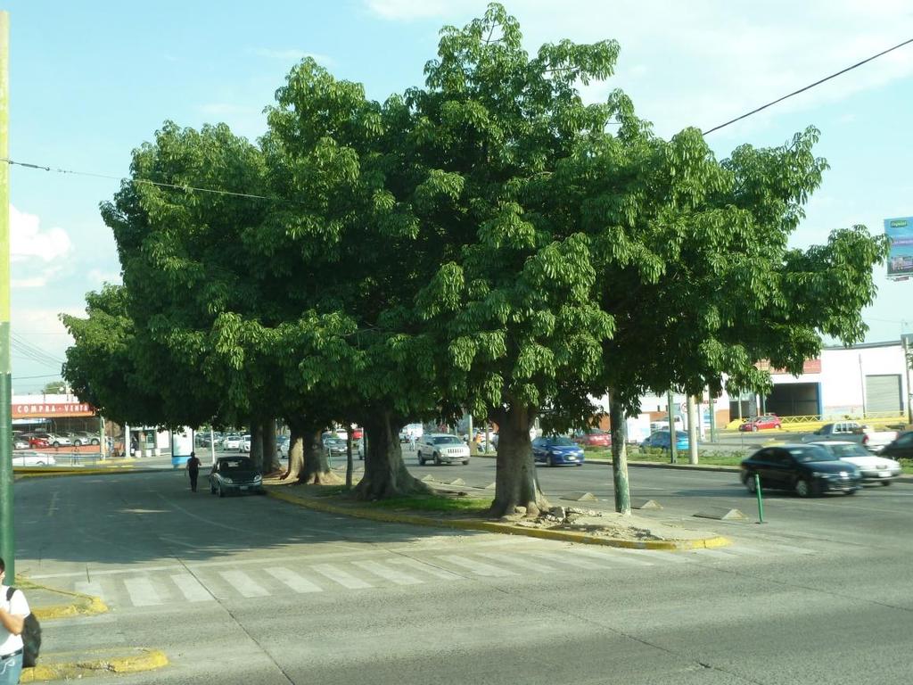
{"label": "yellow-painted curb end at bottom left, nearest the camera", "polygon": [[[111,657],[111,650],[91,652],[63,652],[51,654],[51,663],[38,664],[31,669],[22,669],[20,682],[44,682],[45,680],[76,680],[105,673],[139,673],[162,669],[168,665],[163,651],[148,648],[120,648],[113,650],[118,656]],[[41,659],[39,657],[39,659]],[[61,659],[54,662],[55,659]]]}

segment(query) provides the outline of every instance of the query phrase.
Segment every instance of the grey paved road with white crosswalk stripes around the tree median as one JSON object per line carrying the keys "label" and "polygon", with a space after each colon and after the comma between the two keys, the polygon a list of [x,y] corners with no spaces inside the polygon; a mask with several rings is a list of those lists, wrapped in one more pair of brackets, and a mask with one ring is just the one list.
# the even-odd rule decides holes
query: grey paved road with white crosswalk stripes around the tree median
{"label": "grey paved road with white crosswalk stripes around the tree median", "polygon": [[[572,472],[611,471],[542,476]],[[644,515],[744,501],[729,474],[634,479],[670,503]],[[713,523],[731,548],[648,553],[221,500],[182,473],[30,479],[18,570],[112,608],[48,622],[44,649],[165,649],[128,683],[907,683],[911,497],[774,498],[766,526]]]}

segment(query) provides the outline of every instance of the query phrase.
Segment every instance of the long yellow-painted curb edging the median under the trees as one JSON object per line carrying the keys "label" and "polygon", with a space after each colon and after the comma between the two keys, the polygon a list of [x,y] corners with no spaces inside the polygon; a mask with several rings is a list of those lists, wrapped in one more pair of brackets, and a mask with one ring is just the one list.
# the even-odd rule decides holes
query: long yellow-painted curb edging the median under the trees
{"label": "long yellow-painted curb edging the median under the trees", "polygon": [[[289,487],[289,486],[284,486]],[[593,535],[586,532],[555,531],[542,528],[526,528],[513,523],[493,521],[479,521],[477,519],[439,519],[415,514],[404,514],[394,511],[379,511],[365,507],[341,507],[331,502],[319,501],[309,497],[282,492],[276,488],[265,489],[267,495],[274,500],[287,501],[301,507],[324,513],[343,514],[358,519],[369,519],[388,523],[409,523],[420,526],[433,526],[435,528],[456,528],[467,531],[498,532],[508,535],[526,535],[528,537],[544,540],[561,540],[569,543],[598,544],[606,547],[624,547],[638,550],[694,550],[725,547],[731,544],[728,538],[714,535],[708,538],[694,540],[623,540]]]}

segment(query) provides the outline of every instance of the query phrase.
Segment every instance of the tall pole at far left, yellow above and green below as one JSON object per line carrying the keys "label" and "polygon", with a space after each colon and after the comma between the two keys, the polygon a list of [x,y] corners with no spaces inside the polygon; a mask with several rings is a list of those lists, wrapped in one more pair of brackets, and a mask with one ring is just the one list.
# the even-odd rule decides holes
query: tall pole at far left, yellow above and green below
{"label": "tall pole at far left, yellow above and green below", "polygon": [[9,13],[0,12],[0,556],[16,578],[13,527],[13,380],[9,353]]}

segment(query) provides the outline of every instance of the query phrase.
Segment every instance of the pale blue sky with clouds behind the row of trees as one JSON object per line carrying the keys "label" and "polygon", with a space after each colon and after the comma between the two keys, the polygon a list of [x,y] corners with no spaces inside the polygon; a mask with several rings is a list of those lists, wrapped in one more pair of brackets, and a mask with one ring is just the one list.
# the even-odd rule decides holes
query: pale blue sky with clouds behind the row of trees
{"label": "pale blue sky with clouds behind the row of trees", "polygon": [[[584,90],[598,100],[622,88],[638,113],[669,136],[708,129],[913,37],[904,0],[518,0],[528,48],[571,38],[621,44],[615,76]],[[61,311],[118,281],[120,266],[99,204],[128,174],[131,150],[163,121],[225,121],[255,139],[262,110],[289,68],[310,55],[383,100],[422,82],[437,31],[480,16],[464,0],[157,0],[154,3],[12,0],[10,158],[100,174],[10,168],[13,386],[58,377],[70,344]],[[720,157],[737,145],[780,144],[809,124],[831,164],[796,246],[834,228],[883,229],[913,216],[913,46],[855,69],[746,121],[708,135]],[[913,280],[876,274],[867,340],[913,332]]]}

